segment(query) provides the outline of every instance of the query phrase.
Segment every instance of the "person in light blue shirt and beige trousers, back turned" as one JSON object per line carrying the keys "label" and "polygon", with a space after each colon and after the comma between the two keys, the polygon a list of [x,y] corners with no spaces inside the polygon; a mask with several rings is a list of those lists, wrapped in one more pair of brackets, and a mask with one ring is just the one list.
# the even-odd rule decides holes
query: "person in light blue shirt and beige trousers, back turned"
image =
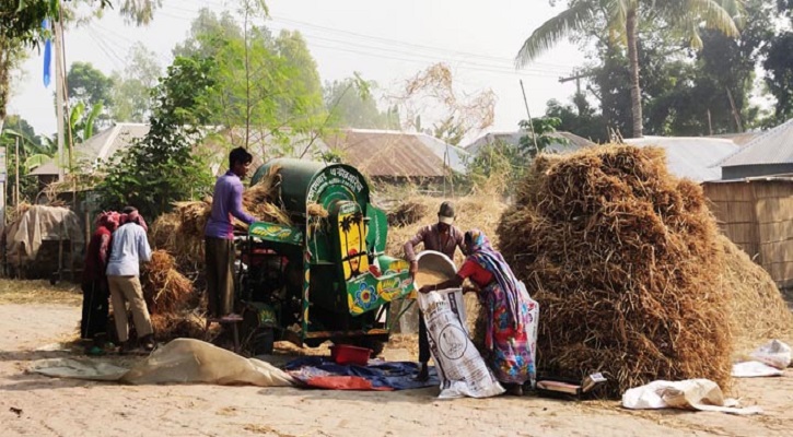
{"label": "person in light blue shirt and beige trousers, back turned", "polygon": [[140,285],[140,263],[151,260],[151,247],[145,237],[145,221],[138,210],[127,206],[124,212],[121,225],[113,233],[110,259],[107,261],[107,283],[110,287],[113,317],[121,353],[132,352],[135,345],[129,341],[127,312],[127,303],[129,303],[140,346],[151,352],[154,350],[154,330],[149,308],[143,299],[143,288]]}

